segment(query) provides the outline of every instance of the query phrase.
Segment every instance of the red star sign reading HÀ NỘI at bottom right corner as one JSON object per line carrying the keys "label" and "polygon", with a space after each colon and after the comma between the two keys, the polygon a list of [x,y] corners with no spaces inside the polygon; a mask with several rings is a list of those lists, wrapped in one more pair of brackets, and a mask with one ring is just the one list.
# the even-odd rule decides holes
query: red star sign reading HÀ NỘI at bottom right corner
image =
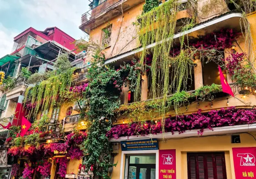
{"label": "red star sign reading H\u00c0 N\u1ed8I at bottom right corner", "polygon": [[256,179],[256,147],[232,148],[236,179]]}

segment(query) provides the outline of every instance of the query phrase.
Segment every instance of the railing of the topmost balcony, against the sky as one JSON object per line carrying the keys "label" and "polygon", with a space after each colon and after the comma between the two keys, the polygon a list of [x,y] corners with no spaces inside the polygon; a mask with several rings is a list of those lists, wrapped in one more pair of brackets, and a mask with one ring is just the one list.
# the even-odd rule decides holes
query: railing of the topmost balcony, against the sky
{"label": "railing of the topmost balcony, against the sky", "polygon": [[82,15],[81,24],[89,24],[91,23],[96,16],[110,10],[114,5],[118,4],[122,0],[106,0],[96,7],[88,10],[86,13]]}

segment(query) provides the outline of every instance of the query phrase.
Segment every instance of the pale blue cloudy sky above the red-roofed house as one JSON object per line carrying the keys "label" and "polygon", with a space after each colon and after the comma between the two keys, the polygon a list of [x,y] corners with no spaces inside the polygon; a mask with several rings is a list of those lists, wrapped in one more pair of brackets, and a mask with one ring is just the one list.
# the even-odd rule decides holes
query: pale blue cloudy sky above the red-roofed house
{"label": "pale blue cloudy sky above the red-roofed house", "polygon": [[29,27],[56,26],[74,39],[85,37],[78,27],[89,0],[0,0],[0,58],[11,53],[13,38]]}

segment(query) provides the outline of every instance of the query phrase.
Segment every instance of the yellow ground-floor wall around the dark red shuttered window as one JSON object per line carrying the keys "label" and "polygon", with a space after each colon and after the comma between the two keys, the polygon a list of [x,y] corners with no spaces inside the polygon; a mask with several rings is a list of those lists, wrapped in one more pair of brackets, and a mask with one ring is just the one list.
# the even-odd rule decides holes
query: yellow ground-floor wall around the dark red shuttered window
{"label": "yellow ground-floor wall around the dark red shuttered window", "polygon": [[[256,133],[254,133],[255,135]],[[154,136],[153,136],[154,137]],[[230,135],[194,137],[186,139],[159,141],[159,150],[176,149],[176,178],[187,179],[187,152],[225,152],[227,179],[235,179],[232,148],[255,147],[256,143],[249,134],[240,134],[241,143],[231,144]],[[120,146],[121,149],[121,146]],[[112,179],[119,179],[122,151],[116,155],[114,162],[118,162],[113,169]],[[158,160],[158,159],[157,159]],[[123,163],[124,164],[124,163]],[[124,169],[124,166],[122,166]],[[124,170],[123,170],[124,171]]]}

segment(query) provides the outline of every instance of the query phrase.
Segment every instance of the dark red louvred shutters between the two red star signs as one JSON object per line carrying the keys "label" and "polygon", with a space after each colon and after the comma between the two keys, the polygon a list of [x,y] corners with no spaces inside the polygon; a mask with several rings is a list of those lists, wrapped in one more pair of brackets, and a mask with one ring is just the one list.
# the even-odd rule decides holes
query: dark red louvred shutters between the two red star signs
{"label": "dark red louvred shutters between the two red star signs", "polygon": [[226,179],[224,152],[188,153],[188,179]]}

